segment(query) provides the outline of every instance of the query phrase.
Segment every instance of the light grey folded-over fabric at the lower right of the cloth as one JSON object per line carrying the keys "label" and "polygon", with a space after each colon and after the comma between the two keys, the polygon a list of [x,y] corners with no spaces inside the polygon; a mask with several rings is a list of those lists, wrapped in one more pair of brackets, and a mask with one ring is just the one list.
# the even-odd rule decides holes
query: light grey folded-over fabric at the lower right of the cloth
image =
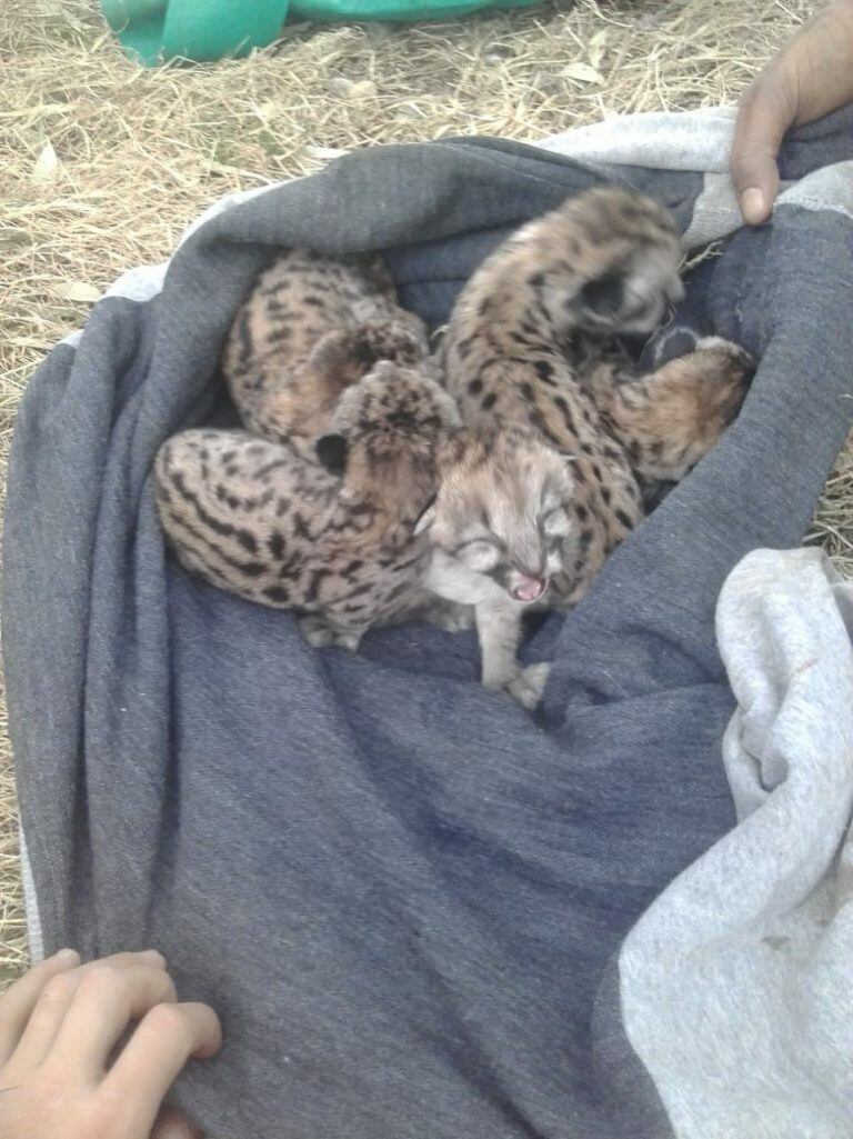
{"label": "light grey folded-over fabric at the lower right of the cloth", "polygon": [[720,597],[743,821],[620,954],[626,1035],[679,1139],[853,1134],[852,614],[814,549],[751,554]]}

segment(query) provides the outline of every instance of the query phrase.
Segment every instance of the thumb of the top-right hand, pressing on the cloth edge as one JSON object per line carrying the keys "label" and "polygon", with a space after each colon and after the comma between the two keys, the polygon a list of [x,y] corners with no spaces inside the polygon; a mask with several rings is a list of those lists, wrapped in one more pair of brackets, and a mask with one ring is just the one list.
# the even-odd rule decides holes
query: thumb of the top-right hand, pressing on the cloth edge
{"label": "thumb of the top-right hand, pressing on the cloth edge", "polygon": [[731,148],[731,180],[744,221],[757,226],[770,216],[779,192],[779,147],[794,112],[774,82],[749,88],[738,107]]}

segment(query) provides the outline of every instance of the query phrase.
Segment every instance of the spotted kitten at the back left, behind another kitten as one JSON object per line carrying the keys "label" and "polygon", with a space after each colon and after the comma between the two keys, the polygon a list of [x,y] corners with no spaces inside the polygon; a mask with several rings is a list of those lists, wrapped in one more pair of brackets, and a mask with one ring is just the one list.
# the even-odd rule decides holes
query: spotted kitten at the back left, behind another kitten
{"label": "spotted kitten at the back left, behind another kitten", "polygon": [[222,370],[244,425],[314,460],[314,442],[351,384],[378,360],[415,366],[427,353],[418,317],[396,303],[378,257],[279,255],[231,328]]}

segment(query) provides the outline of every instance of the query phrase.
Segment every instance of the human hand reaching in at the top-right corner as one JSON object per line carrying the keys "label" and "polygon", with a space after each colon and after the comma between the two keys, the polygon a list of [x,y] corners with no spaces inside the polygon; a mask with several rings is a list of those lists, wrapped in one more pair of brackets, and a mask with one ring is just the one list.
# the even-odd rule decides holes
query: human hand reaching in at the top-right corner
{"label": "human hand reaching in at the top-right corner", "polygon": [[746,222],[757,226],[770,215],[786,132],[851,101],[853,0],[836,0],[797,32],[740,100],[731,178]]}

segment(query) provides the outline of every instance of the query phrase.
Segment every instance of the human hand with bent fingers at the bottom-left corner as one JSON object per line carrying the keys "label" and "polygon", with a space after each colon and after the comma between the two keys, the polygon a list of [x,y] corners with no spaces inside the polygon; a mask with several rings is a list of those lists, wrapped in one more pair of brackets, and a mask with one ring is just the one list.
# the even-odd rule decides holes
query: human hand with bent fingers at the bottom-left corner
{"label": "human hand with bent fingers at the bottom-left corner", "polygon": [[212,1009],[178,1003],[159,953],[81,966],[64,950],[0,997],[0,1136],[191,1139],[198,1132],[163,1098],[221,1039]]}

